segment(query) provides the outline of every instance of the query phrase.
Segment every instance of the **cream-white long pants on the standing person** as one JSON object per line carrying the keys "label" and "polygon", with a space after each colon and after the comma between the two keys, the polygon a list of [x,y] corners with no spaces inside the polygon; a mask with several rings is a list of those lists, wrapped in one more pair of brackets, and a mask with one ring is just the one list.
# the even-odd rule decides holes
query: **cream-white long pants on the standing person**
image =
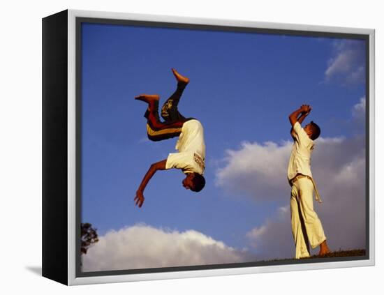
{"label": "cream-white long pants on the standing person", "polygon": [[290,222],[296,246],[295,258],[309,257],[309,245],[316,248],[326,239],[320,219],[313,210],[313,183],[310,179],[301,178],[293,183]]}

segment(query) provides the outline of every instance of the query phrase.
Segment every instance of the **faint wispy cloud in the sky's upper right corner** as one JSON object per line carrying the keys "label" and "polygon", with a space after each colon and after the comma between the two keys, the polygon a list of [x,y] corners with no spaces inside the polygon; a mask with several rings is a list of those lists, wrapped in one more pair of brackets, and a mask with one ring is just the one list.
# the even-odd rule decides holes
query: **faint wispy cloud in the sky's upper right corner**
{"label": "faint wispy cloud in the sky's upper right corner", "polygon": [[362,40],[337,40],[334,56],[328,60],[325,82],[336,80],[343,84],[365,81],[365,43]]}

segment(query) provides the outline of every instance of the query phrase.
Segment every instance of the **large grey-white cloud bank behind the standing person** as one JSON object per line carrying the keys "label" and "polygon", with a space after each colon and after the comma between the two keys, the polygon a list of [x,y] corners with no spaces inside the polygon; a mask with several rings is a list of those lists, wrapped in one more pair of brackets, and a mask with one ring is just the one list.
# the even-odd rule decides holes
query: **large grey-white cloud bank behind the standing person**
{"label": "large grey-white cloud bank behind the standing person", "polygon": [[[353,107],[353,116],[364,117],[364,99]],[[365,248],[365,139],[318,138],[311,157],[313,177],[322,204],[315,210],[323,222],[332,249]],[[273,200],[276,215],[247,234],[263,259],[293,257],[287,166],[292,142],[244,142],[226,151],[225,165],[216,172],[216,185],[242,192],[256,202]]]}

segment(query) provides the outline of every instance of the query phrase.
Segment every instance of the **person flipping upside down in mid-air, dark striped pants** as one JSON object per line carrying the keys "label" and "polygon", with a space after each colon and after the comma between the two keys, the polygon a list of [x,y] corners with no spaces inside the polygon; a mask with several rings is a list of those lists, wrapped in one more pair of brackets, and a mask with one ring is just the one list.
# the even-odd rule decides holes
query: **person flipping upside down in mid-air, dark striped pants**
{"label": "person flipping upside down in mid-air, dark striped pants", "polygon": [[147,135],[150,140],[157,142],[179,137],[176,144],[179,153],[170,153],[167,159],[152,164],[142,179],[135,196],[135,204],[139,207],[144,202],[143,192],[149,179],[158,170],[181,169],[186,174],[182,185],[187,190],[200,192],[205,186],[205,179],[202,176],[205,169],[204,130],[200,121],[185,118],[177,109],[182,93],[189,83],[189,78],[180,75],[175,69],[172,69],[172,73],[177,80],[177,89],[161,107],[163,122],[158,118],[158,95],[141,94],[135,97],[136,100],[142,100],[148,104],[145,118],[147,118]]}

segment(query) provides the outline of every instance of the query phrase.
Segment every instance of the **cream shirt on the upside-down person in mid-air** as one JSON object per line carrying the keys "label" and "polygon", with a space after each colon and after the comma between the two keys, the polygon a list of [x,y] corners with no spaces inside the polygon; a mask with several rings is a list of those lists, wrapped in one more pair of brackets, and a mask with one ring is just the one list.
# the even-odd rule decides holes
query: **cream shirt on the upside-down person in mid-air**
{"label": "cream shirt on the upside-down person in mid-air", "polygon": [[205,142],[204,129],[198,120],[186,121],[182,127],[175,149],[179,153],[170,153],[165,169],[182,169],[184,174],[204,174]]}

